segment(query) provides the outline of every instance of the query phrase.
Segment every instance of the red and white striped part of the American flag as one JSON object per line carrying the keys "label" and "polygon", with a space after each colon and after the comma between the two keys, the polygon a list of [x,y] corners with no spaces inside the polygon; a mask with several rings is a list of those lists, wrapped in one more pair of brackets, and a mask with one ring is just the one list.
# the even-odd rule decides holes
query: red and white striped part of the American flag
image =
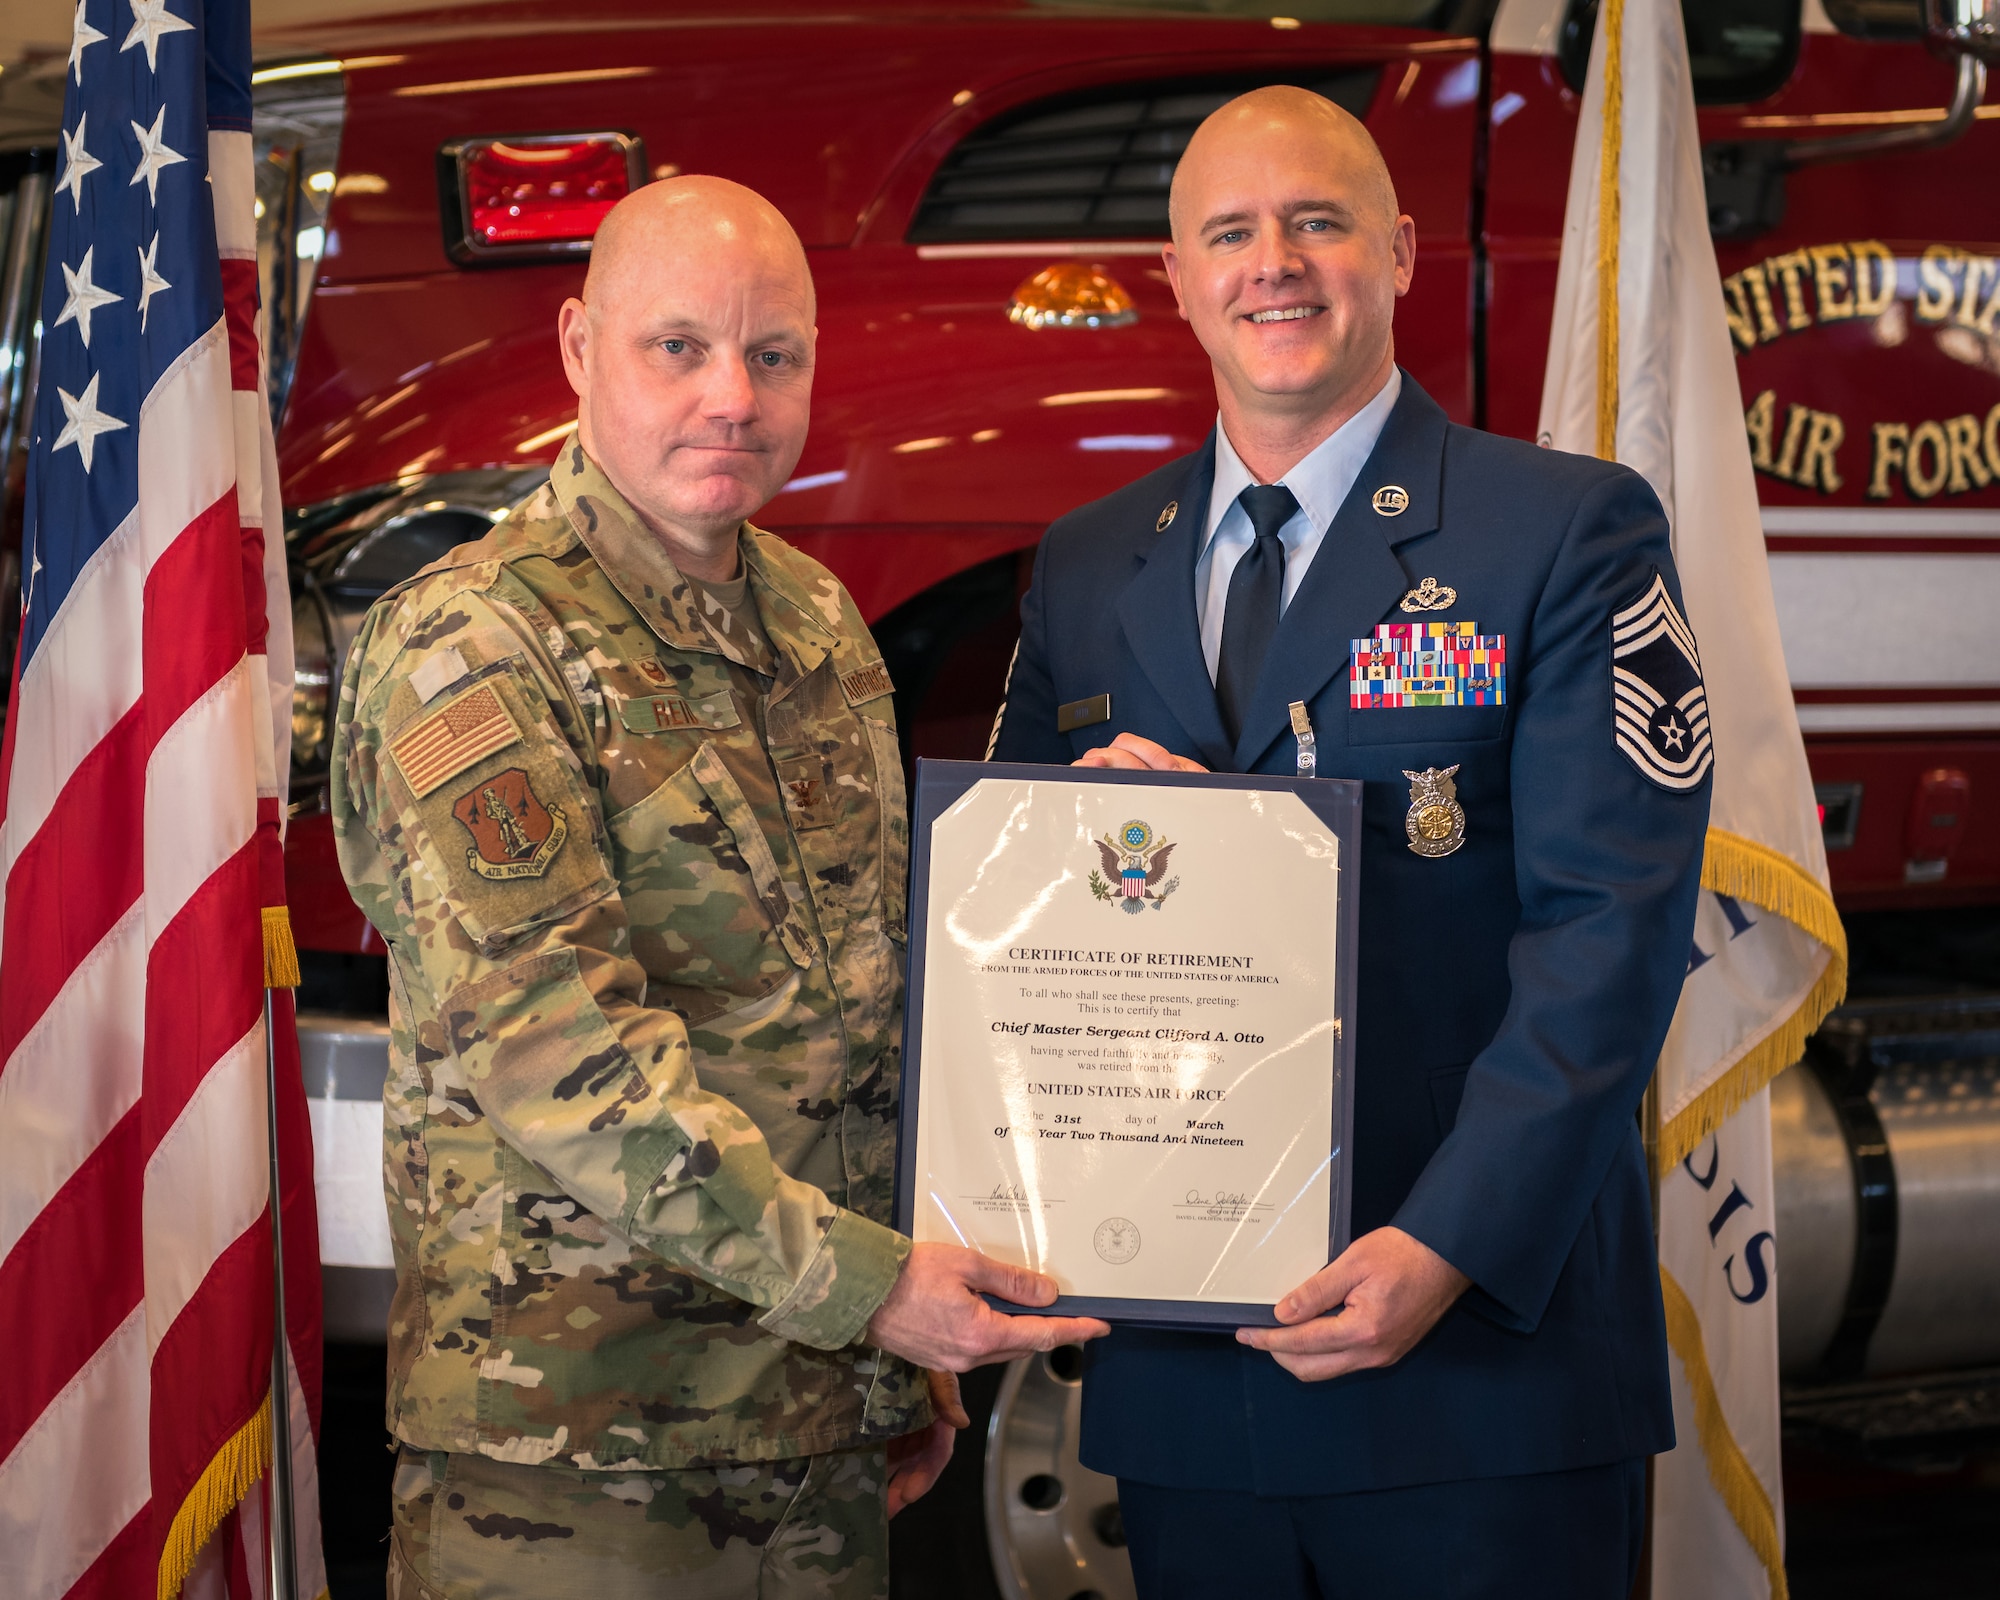
{"label": "red and white striped part of the American flag", "polygon": [[[270,1384],[260,908],[290,608],[282,540],[262,536],[282,524],[250,136],[212,132],[210,170],[226,314],[146,396],[138,508],[14,692],[0,820],[8,1600],[154,1594],[174,1514]],[[268,654],[266,616],[282,632]],[[310,1164],[310,1142],[284,1144],[292,1168]],[[286,1242],[288,1278],[316,1278],[290,1218]],[[310,1352],[294,1342],[300,1362],[316,1376],[316,1326]],[[284,1404],[302,1424],[310,1510],[296,1374]],[[222,1570],[258,1572],[262,1514],[232,1522],[242,1548]],[[314,1596],[316,1516],[302,1532],[300,1592]]]}

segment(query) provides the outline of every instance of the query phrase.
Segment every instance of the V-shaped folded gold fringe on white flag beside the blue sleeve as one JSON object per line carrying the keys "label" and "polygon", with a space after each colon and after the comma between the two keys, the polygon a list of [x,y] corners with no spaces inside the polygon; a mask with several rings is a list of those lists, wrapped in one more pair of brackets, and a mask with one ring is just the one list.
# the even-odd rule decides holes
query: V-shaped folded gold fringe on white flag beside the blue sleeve
{"label": "V-shaped folded gold fringe on white flag beside the blue sleeve", "polygon": [[1702,888],[1728,894],[1732,900],[1748,900],[1760,910],[1782,916],[1824,944],[1828,960],[1798,1010],[1666,1120],[1666,1126],[1660,1128],[1658,1172],[1668,1172],[1684,1162],[1746,1100],[1760,1094],[1772,1078],[1796,1062],[1806,1050],[1806,1036],[1848,992],[1848,936],[1840,926],[1840,912],[1834,910],[1834,896],[1790,856],[1780,856],[1770,846],[1742,834],[1710,828],[1708,846],[1702,852]]}

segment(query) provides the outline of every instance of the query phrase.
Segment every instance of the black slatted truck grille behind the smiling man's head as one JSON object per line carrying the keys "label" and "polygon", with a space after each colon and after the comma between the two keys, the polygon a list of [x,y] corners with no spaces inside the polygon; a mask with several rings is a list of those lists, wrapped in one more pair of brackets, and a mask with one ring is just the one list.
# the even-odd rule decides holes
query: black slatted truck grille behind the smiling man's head
{"label": "black slatted truck grille behind the smiling man's head", "polygon": [[1112,84],[976,128],[944,158],[912,244],[1062,236],[1166,238],[1166,190],[1188,136],[1224,102],[1300,84],[1362,116],[1376,70]]}

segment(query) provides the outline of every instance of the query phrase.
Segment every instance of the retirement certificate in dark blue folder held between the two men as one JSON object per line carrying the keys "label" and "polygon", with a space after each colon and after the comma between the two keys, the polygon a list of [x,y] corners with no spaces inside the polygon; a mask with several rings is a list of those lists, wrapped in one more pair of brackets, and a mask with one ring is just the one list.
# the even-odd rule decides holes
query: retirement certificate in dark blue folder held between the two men
{"label": "retirement certificate in dark blue folder held between the two men", "polygon": [[1268,1322],[1344,1244],[1358,788],[924,762],[908,1232]]}

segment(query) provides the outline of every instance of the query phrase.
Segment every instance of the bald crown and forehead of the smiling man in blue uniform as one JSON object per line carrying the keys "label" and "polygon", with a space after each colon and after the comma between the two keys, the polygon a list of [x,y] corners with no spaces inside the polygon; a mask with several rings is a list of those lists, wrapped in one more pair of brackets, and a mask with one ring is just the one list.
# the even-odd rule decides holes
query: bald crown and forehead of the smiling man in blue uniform
{"label": "bald crown and forehead of the smiling man in blue uniform", "polygon": [[1168,226],[1178,240],[1202,224],[1202,202],[1226,174],[1278,156],[1346,178],[1356,200],[1384,228],[1396,224],[1396,184],[1388,162],[1360,118],[1324,94],[1288,84],[1254,88],[1212,112],[1188,140],[1168,192]]}

